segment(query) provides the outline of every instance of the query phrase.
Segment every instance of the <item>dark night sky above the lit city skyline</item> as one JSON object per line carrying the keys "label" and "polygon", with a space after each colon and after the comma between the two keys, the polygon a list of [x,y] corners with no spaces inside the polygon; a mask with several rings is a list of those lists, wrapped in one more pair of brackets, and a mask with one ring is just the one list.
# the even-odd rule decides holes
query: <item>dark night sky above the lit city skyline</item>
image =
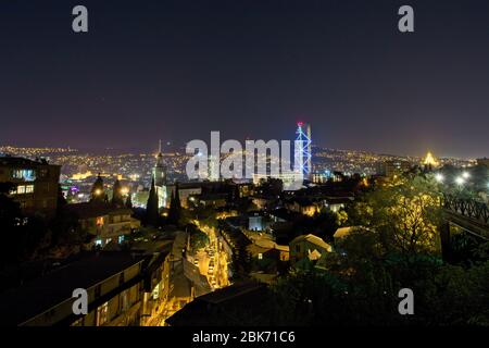
{"label": "dark night sky above the lit city skyline", "polygon": [[0,0],[0,120],[18,146],[289,139],[302,120],[330,148],[489,156],[489,1]]}

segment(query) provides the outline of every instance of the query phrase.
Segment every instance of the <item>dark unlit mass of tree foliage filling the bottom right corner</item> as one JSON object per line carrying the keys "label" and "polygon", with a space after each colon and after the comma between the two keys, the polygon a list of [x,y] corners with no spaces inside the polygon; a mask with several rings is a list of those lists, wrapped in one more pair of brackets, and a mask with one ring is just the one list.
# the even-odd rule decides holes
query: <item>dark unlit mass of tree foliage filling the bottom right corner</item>
{"label": "dark unlit mass of tree foliage filling the bottom right corner", "polygon": [[[468,269],[429,253],[386,250],[380,235],[354,229],[327,254],[327,269],[292,272],[273,286],[277,325],[487,325],[489,261]],[[399,290],[415,315],[399,315]]]}

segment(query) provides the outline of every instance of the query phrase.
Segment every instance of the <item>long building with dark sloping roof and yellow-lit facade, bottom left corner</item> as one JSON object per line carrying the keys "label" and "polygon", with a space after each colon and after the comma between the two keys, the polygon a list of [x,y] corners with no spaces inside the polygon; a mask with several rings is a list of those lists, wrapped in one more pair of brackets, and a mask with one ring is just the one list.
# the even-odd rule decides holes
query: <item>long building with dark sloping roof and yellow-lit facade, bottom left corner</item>
{"label": "long building with dark sloping roof and yellow-lit facade, bottom left corner", "polygon": [[[89,252],[47,275],[2,293],[0,321],[21,326],[139,325],[145,257]],[[88,313],[73,312],[75,289],[86,289]]]}

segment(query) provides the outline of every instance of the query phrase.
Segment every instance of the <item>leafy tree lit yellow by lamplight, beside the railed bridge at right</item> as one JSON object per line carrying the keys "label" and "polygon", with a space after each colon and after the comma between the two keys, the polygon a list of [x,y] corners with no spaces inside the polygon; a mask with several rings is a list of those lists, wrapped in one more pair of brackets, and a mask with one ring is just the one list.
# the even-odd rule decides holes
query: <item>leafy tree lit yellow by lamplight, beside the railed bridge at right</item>
{"label": "leafy tree lit yellow by lamplight, beside the railed bridge at right", "polygon": [[368,192],[349,213],[351,225],[368,227],[386,248],[401,252],[437,252],[441,194],[430,177],[402,177]]}

